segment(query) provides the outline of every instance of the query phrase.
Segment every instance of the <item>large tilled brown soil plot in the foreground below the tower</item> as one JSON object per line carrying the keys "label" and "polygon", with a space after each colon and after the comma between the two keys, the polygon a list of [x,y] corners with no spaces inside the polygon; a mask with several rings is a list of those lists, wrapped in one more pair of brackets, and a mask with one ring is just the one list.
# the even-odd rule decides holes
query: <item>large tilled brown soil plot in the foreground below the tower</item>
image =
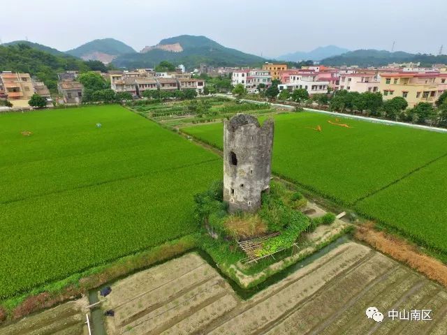
{"label": "large tilled brown soil plot in the foreground below the tower", "polygon": [[[368,319],[376,306],[383,322]],[[447,292],[372,248],[348,242],[247,301],[196,253],[112,285],[108,334],[445,334]],[[388,318],[432,309],[431,321]]]}

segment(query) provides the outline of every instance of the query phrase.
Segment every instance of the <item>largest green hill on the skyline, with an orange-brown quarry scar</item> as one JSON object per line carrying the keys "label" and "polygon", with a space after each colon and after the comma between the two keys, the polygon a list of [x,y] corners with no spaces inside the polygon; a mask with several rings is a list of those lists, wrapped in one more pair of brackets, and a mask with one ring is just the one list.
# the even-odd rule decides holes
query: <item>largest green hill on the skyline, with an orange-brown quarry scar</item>
{"label": "largest green hill on the skyline, with an orange-brown quarry scar", "polygon": [[[176,43],[181,51],[163,50]],[[170,61],[174,64],[184,64],[187,68],[196,68],[200,63],[211,66],[249,66],[265,61],[254,54],[224,47],[205,36],[182,35],[165,38],[158,45],[147,47],[145,50],[147,51],[122,54],[113,60],[113,64],[126,68],[143,68],[154,67],[160,61]]]}

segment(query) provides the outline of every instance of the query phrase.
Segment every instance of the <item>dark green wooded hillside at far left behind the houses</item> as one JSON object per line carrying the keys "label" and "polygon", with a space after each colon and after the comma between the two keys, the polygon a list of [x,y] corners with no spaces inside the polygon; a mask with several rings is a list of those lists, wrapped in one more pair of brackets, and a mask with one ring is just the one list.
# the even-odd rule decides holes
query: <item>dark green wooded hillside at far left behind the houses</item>
{"label": "dark green wooded hillside at far left behind the houses", "polygon": [[5,47],[0,45],[0,71],[29,73],[36,76],[49,89],[57,88],[57,73],[65,70],[107,71],[104,64],[98,61],[82,61],[66,55],[54,55],[34,49],[29,45],[19,44]]}

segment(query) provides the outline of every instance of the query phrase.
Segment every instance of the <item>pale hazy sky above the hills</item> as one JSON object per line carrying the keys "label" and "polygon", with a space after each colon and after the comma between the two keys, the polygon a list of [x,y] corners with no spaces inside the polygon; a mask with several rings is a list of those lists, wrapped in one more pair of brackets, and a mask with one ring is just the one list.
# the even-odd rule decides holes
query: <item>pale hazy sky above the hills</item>
{"label": "pale hazy sky above the hills", "polygon": [[140,51],[162,38],[204,35],[276,57],[320,45],[447,53],[447,0],[2,1],[3,43],[28,38],[65,51],[112,37]]}

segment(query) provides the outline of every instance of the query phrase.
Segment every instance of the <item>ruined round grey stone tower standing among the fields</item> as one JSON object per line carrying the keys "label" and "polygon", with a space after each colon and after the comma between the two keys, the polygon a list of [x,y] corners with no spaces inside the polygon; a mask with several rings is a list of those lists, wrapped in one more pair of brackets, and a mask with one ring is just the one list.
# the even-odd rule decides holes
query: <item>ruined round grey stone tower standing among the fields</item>
{"label": "ruined round grey stone tower standing among the fields", "polygon": [[270,187],[273,121],[237,114],[223,124],[223,200],[229,211],[254,212]]}

